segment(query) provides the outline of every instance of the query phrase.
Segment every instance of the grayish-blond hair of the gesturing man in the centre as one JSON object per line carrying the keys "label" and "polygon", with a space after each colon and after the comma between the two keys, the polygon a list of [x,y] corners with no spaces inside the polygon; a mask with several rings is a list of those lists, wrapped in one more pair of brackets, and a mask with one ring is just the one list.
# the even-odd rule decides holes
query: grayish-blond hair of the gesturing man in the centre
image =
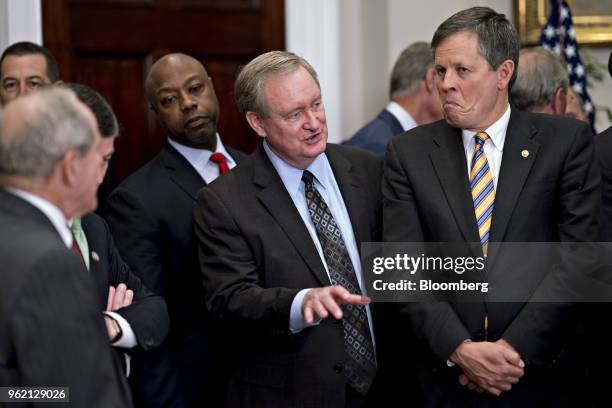
{"label": "grayish-blond hair of the gesturing man in the centre", "polygon": [[234,84],[236,105],[243,114],[253,112],[266,118],[269,109],[263,97],[263,84],[266,80],[285,75],[304,68],[317,83],[317,72],[304,58],[287,51],[270,51],[261,54],[242,68]]}

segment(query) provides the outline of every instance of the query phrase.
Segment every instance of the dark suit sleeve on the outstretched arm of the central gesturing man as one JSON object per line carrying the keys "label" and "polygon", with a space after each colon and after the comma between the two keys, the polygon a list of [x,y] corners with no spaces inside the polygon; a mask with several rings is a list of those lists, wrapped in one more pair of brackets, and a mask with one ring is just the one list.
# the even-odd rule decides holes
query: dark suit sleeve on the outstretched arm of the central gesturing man
{"label": "dark suit sleeve on the outstretched arm of the central gesturing man", "polygon": [[198,194],[194,215],[206,306],[218,319],[288,334],[291,302],[299,290],[262,287],[259,265],[230,205],[209,187]]}

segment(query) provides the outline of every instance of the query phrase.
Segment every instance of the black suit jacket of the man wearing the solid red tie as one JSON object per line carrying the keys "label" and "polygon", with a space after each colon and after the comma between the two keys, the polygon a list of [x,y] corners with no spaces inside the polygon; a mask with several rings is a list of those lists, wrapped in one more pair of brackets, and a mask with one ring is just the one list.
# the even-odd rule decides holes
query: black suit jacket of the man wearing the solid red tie
{"label": "black suit jacket of the man wearing the solid red tie", "polygon": [[[243,155],[228,152],[240,162]],[[165,345],[134,359],[136,404],[218,406],[224,394],[220,344],[205,311],[193,207],[206,183],[169,144],[109,197],[107,221],[122,258],[165,298],[172,327]]]}

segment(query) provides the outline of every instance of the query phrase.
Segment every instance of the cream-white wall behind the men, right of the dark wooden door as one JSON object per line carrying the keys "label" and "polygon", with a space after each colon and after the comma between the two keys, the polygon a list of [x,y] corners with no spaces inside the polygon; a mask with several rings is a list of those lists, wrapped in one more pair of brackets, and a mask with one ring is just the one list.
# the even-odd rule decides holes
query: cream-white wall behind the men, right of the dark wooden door
{"label": "cream-white wall behind the men, right of the dark wooden door", "polygon": [[[488,6],[514,21],[513,0],[286,0],[288,9],[295,4],[299,8],[293,18],[288,13],[287,44],[319,72],[331,141],[348,139],[385,106],[389,75],[399,53],[414,41],[430,41],[438,25],[453,13]],[[333,19],[326,17],[329,8]],[[310,18],[306,9],[316,10],[319,17]],[[302,43],[289,41],[295,32]],[[318,49],[318,57],[301,52],[308,49]],[[332,49],[335,56],[330,55]],[[607,64],[611,48],[581,50]],[[612,108],[612,80],[605,77],[590,93],[596,105]],[[604,112],[597,119],[598,131],[610,125]]]}

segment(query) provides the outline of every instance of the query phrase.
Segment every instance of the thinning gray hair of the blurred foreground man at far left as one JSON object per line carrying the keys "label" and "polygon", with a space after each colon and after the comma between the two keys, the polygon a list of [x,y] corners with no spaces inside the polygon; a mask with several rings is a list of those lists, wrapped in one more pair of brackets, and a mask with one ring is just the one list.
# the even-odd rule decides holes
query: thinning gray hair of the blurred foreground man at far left
{"label": "thinning gray hair of the blurred foreground man at far left", "polygon": [[9,103],[0,112],[0,174],[46,180],[69,150],[85,156],[95,131],[78,104],[56,87]]}

